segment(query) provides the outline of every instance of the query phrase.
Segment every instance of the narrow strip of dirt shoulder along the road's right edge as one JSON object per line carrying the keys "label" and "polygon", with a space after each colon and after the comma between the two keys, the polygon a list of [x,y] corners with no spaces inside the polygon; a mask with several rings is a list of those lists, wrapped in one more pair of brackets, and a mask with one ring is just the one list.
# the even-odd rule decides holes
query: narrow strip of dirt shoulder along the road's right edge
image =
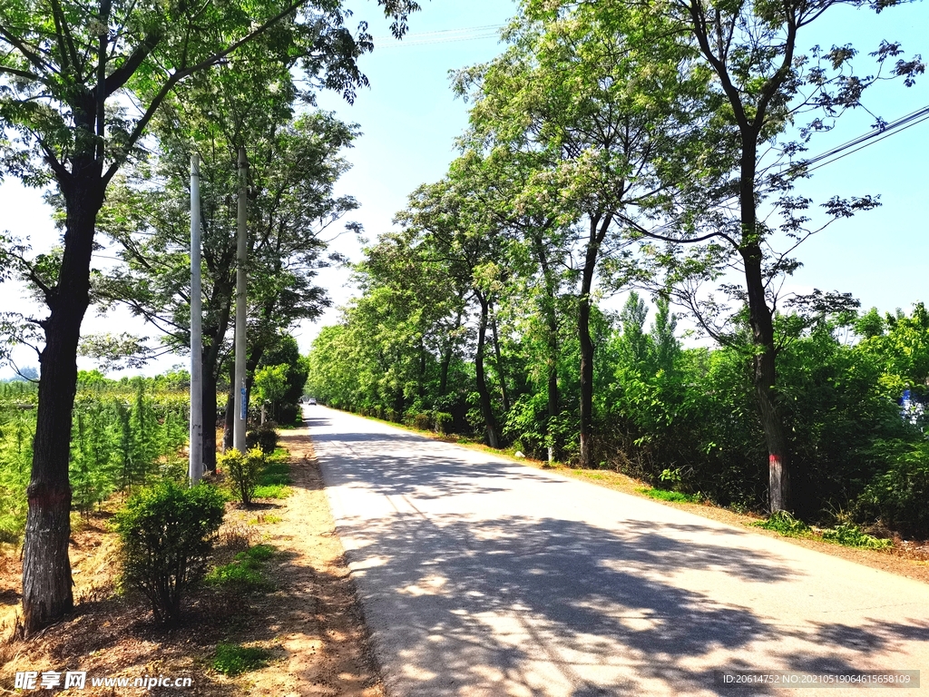
{"label": "narrow strip of dirt shoulder along the road's right edge", "polygon": [[[360,414],[355,415],[360,416]],[[753,526],[752,523],[757,522],[761,518],[751,514],[736,513],[735,511],[729,510],[727,508],[713,506],[712,504],[685,504],[671,501],[657,501],[656,499],[646,496],[644,493],[639,491],[641,489],[648,488],[648,484],[639,480],[635,480],[632,477],[627,477],[626,475],[619,472],[614,472],[612,470],[574,469],[572,467],[567,467],[566,465],[561,464],[556,464],[554,467],[552,467],[547,463],[539,460],[531,460],[525,457],[517,458],[514,456],[512,450],[494,450],[486,445],[473,442],[461,443],[453,437],[444,436],[442,434],[435,433],[434,431],[424,431],[418,428],[406,427],[401,424],[395,424],[391,421],[384,421],[382,419],[376,419],[370,416],[364,416],[362,418],[369,418],[372,421],[379,421],[380,423],[386,424],[388,426],[408,430],[412,433],[418,433],[421,436],[425,436],[426,438],[431,438],[433,440],[458,443],[459,445],[463,445],[464,447],[470,448],[472,450],[479,450],[481,452],[491,454],[495,457],[503,457],[505,459],[512,460],[519,465],[526,465],[528,467],[536,467],[537,469],[554,471],[558,474],[570,477],[571,479],[588,481],[597,486],[607,487],[608,489],[613,489],[622,493],[628,493],[632,496],[648,498],[649,501],[656,501],[656,503],[659,503],[662,506],[681,508],[703,518],[717,520],[719,522],[726,523],[727,525],[733,525],[739,528],[747,528],[748,530],[751,530],[752,533],[759,535],[765,535],[767,537],[778,537],[782,540],[786,540],[787,542],[792,543],[793,545],[806,547],[807,549],[815,549],[816,551],[822,552],[823,554],[829,554],[833,557],[840,557],[842,559],[847,559],[848,561],[854,561],[858,564],[863,564],[864,566],[869,566],[873,569],[880,569],[884,572],[896,573],[899,576],[906,576],[907,578],[929,584],[929,542],[927,541],[904,542],[903,540],[896,538],[894,539],[894,546],[892,548],[886,550],[875,550],[860,547],[842,546],[830,542],[824,542],[818,539],[787,537],[773,531],[765,530],[764,528]]]}

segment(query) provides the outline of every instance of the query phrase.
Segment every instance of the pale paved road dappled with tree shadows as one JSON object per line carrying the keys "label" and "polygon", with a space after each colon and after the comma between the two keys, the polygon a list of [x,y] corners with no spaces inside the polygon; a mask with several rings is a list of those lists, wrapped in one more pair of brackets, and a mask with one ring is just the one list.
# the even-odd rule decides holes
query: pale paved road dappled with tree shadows
{"label": "pale paved road dappled with tree shadows", "polygon": [[307,407],[391,697],[862,694],[736,669],[920,670],[929,585]]}

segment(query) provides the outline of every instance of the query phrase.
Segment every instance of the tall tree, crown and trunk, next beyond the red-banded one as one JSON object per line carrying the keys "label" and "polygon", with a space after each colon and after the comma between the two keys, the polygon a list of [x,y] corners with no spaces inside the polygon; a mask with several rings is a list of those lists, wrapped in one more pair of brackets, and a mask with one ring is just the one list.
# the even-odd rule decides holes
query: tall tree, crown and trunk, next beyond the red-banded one
{"label": "tall tree, crown and trunk, next beyond the red-banded one", "polygon": [[[679,163],[693,151],[689,121],[705,111],[706,74],[682,78],[684,54],[667,23],[644,7],[600,7],[527,2],[506,53],[459,77],[459,90],[475,99],[478,138],[541,152],[529,186],[576,233],[585,467],[594,462],[591,313],[599,262],[611,256],[614,275],[628,271],[623,230],[667,205],[663,182],[680,175]],[[674,173],[662,171],[668,166]]]}

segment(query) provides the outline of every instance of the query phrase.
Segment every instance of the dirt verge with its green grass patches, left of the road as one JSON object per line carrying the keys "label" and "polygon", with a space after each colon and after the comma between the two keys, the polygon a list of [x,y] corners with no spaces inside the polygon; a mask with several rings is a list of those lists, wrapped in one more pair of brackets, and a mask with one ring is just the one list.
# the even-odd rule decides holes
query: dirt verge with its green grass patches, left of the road
{"label": "dirt verge with its green grass patches, left of the road", "polygon": [[[17,607],[20,555],[10,546],[0,549],[0,688],[13,690],[17,670],[87,670],[88,676],[190,677],[193,690],[208,697],[291,694],[306,679],[334,694],[347,685],[382,694],[373,688],[377,673],[309,447],[305,434],[289,431],[273,455],[276,476],[293,480],[287,499],[256,498],[242,506],[220,475],[169,495],[164,490],[173,485],[164,482],[139,488],[134,506],[127,508],[117,494],[86,517],[75,514],[70,557],[79,612],[26,640]],[[210,504],[216,496],[222,524],[205,537],[210,547],[200,582],[182,589],[169,623],[159,622],[144,588],[130,583],[117,563],[124,555],[113,521],[187,510],[197,524],[175,533],[183,528],[196,543],[216,522],[215,501]],[[204,505],[191,510],[188,498]],[[203,561],[191,554],[195,546],[174,546],[188,557],[189,569]],[[147,572],[158,578],[165,570],[138,563],[144,555],[134,559],[133,578]]]}

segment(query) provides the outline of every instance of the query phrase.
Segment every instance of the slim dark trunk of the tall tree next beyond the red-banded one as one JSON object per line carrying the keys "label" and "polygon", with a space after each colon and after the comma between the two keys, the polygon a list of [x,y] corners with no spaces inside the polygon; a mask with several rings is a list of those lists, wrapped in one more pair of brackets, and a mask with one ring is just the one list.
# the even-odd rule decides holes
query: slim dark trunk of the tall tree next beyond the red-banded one
{"label": "slim dark trunk of the tall tree next beyond the red-banded one", "polygon": [[581,274],[578,308],[578,338],[581,341],[581,467],[594,467],[594,341],[590,336],[591,291],[600,244],[607,234],[612,216],[590,217],[590,239]]}

